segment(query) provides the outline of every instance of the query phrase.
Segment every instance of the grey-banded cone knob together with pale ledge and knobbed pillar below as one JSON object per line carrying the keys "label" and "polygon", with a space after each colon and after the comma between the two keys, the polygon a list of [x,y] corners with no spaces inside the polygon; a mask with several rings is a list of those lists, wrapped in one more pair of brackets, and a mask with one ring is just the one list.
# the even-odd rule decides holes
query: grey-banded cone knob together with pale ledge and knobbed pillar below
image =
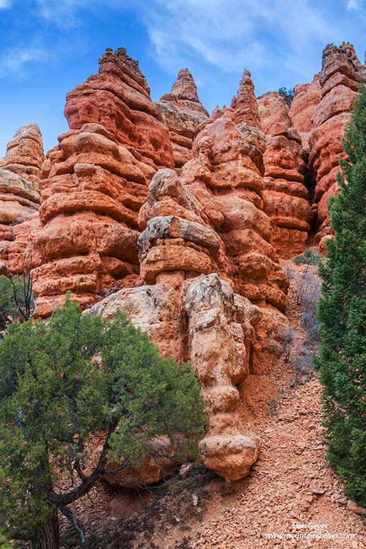
{"label": "grey-banded cone knob together with pale ledge and knobbed pillar below", "polygon": [[227,480],[242,478],[258,457],[259,439],[239,421],[236,385],[249,373],[253,326],[262,313],[234,294],[225,245],[174,171],[155,174],[139,224],[141,278],[148,285],[121,290],[89,312],[111,318],[122,307],[161,353],[190,360],[209,405],[200,458]]}

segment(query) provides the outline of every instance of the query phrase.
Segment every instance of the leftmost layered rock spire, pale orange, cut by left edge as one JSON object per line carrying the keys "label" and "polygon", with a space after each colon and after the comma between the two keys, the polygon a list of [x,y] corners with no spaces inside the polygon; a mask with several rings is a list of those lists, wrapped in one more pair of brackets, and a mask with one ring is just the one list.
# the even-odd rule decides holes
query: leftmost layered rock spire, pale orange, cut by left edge
{"label": "leftmost layered rock spire, pale orange, cut by left edge", "polygon": [[0,259],[12,274],[23,270],[27,245],[41,228],[38,181],[43,142],[36,124],[20,128],[0,160]]}

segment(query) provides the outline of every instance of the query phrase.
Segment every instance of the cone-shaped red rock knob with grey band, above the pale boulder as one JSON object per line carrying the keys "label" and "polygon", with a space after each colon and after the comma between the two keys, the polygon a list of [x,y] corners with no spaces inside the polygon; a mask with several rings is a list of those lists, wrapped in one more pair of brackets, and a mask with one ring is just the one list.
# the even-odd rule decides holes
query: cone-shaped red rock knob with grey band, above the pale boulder
{"label": "cone-shaped red rock knob with grey band, above the pale boulder", "polygon": [[159,170],[152,179],[139,224],[145,229],[139,259],[146,283],[169,281],[178,287],[186,278],[225,269],[221,243],[203,206],[173,170]]}

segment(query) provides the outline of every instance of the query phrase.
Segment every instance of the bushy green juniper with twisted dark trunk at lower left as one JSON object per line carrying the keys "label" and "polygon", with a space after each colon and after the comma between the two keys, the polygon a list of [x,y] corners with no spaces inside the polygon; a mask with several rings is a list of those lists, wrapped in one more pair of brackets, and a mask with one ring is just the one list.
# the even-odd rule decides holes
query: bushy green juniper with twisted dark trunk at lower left
{"label": "bushy green juniper with twisted dark trunk at lower left", "polygon": [[[122,313],[113,322],[67,301],[45,325],[12,323],[0,341],[0,539],[57,549],[58,515],[83,533],[73,502],[106,458],[159,458],[154,436],[194,456],[205,414],[190,366],[163,358]],[[102,433],[91,468],[87,447]],[[113,472],[113,471],[110,471]]]}

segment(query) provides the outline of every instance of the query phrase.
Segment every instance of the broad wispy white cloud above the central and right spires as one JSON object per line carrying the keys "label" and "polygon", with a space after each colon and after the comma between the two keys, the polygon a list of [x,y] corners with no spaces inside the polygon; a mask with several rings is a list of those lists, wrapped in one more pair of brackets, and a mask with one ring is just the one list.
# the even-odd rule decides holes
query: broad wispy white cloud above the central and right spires
{"label": "broad wispy white cloud above the central and right spires", "polygon": [[311,52],[319,56],[328,40],[343,40],[311,0],[130,0],[130,6],[168,71],[200,59],[231,73],[276,62],[308,74]]}

